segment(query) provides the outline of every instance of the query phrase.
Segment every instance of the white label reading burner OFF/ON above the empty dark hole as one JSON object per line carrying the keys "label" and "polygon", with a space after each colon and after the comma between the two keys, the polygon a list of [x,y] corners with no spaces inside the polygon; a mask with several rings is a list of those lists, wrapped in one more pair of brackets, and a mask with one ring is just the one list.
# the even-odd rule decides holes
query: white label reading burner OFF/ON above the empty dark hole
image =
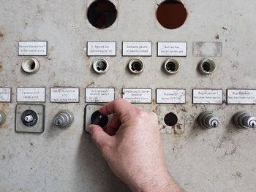
{"label": "white label reading burner OFF/ON above the empty dark hole", "polygon": [[157,89],[157,104],[185,104],[186,90]]}

